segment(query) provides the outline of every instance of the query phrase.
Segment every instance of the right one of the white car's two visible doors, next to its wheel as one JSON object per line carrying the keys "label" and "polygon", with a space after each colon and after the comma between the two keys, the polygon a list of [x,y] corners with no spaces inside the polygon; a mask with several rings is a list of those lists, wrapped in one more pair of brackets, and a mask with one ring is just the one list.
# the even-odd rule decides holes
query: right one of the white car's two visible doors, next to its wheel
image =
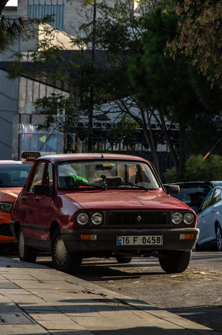
{"label": "right one of the white car's two visible doors, next to its wheel", "polygon": [[221,222],[221,205],[221,188],[215,188],[211,197],[209,211],[205,216],[205,225],[209,241],[216,238],[215,221]]}

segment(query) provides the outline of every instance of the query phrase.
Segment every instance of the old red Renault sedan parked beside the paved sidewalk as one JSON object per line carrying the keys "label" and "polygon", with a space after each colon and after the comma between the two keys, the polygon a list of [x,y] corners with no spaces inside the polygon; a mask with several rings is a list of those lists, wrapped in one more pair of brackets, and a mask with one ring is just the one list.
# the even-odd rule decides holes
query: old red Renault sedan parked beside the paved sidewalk
{"label": "old red Renault sedan parked beside the paved sidewalk", "polygon": [[74,273],[83,258],[159,258],[182,272],[199,235],[197,215],[170,197],[147,160],[119,154],[37,158],[12,208],[10,228],[22,261],[50,251],[56,269]]}

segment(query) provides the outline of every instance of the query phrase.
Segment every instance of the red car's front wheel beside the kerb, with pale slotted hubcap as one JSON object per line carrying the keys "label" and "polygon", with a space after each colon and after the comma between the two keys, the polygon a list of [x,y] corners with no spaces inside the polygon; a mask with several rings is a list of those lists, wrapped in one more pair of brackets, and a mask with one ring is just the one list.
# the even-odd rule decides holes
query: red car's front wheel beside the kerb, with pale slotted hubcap
{"label": "red car's front wheel beside the kerb, with pale slotted hubcap", "polygon": [[51,257],[55,269],[69,274],[76,273],[82,263],[81,253],[71,253],[65,249],[59,227],[52,235]]}

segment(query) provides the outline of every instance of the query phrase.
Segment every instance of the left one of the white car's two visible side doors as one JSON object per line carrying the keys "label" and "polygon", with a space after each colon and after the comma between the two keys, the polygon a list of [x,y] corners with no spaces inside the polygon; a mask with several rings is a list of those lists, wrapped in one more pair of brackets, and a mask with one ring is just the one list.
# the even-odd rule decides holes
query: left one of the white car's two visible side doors
{"label": "left one of the white car's two visible side doors", "polygon": [[199,245],[208,241],[208,233],[206,229],[206,219],[209,220],[209,214],[211,213],[209,206],[210,206],[212,195],[213,195],[213,190],[210,193],[208,193],[208,195],[204,199],[204,202],[202,203],[200,211],[197,215],[197,228],[200,229],[199,238],[197,242]]}

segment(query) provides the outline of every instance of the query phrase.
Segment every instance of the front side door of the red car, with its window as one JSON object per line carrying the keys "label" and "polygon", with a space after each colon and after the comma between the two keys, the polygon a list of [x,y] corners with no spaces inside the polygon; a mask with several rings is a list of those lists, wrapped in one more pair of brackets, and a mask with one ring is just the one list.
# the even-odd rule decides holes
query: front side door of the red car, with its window
{"label": "front side door of the red car, with its window", "polygon": [[[33,176],[30,192],[33,192],[35,185],[48,185],[53,189],[52,164],[50,162],[45,162],[36,177]],[[36,240],[49,241],[47,213],[52,203],[52,197],[45,194],[32,194],[32,236]]]}

